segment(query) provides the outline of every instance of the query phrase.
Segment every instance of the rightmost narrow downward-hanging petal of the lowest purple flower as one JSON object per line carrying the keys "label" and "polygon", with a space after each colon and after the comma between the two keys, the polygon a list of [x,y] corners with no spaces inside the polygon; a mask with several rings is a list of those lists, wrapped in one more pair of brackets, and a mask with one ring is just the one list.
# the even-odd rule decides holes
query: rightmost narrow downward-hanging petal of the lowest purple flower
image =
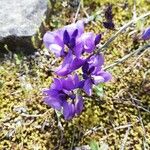
{"label": "rightmost narrow downward-hanging petal of the lowest purple flower", "polygon": [[75,102],[75,113],[79,115],[83,110],[83,99],[81,96],[77,96]]}

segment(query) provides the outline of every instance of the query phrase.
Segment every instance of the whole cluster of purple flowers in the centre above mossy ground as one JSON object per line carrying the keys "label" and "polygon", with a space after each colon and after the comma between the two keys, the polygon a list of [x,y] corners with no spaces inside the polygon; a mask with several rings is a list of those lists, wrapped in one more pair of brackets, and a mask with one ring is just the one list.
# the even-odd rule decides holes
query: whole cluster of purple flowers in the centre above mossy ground
{"label": "whole cluster of purple flowers in the centre above mossy ground", "polygon": [[[66,120],[83,110],[81,90],[90,96],[93,85],[111,79],[110,73],[102,68],[102,54],[94,53],[100,40],[101,34],[84,32],[83,21],[49,31],[43,37],[46,48],[63,60],[55,70],[61,78],[55,78],[51,87],[44,90],[44,100],[47,105],[61,111]],[[77,74],[79,68],[82,70],[80,76]]]}

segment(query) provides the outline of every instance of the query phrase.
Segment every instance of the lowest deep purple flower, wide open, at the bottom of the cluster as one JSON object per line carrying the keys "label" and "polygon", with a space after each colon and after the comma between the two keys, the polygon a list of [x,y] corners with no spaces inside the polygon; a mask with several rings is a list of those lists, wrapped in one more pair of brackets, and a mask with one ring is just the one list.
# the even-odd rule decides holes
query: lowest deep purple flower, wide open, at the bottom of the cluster
{"label": "lowest deep purple flower, wide open, at the bottom of the cluster", "polygon": [[67,79],[54,79],[50,89],[44,90],[45,103],[62,111],[66,120],[79,115],[83,109],[83,99],[75,90],[79,88],[80,82],[77,75],[70,75]]}

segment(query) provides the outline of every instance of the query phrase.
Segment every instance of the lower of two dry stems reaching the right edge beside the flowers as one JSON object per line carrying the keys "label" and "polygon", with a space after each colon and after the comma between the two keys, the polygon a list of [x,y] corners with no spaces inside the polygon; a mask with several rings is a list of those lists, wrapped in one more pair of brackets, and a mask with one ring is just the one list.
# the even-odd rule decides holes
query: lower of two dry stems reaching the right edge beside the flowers
{"label": "lower of two dry stems reaching the right edge beside the flowers", "polygon": [[127,60],[129,57],[131,57],[132,55],[136,54],[136,53],[140,53],[141,51],[144,51],[146,50],[147,48],[150,48],[150,44],[147,44],[147,45],[144,45],[140,48],[138,48],[137,50],[125,55],[124,57],[122,57],[121,59],[118,59],[116,60],[113,64],[109,65],[109,66],[106,66],[104,68],[104,70],[107,70],[107,69],[110,69],[110,68],[113,68],[114,66],[124,62],[125,60]]}

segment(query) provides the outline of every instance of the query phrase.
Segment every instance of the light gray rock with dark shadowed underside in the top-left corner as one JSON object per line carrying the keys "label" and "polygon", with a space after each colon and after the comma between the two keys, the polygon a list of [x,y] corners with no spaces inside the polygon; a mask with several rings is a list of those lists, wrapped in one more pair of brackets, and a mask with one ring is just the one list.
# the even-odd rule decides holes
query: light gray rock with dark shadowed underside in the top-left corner
{"label": "light gray rock with dark shadowed underside in the top-left corner", "polygon": [[30,51],[31,37],[48,14],[48,0],[0,0],[0,52]]}

